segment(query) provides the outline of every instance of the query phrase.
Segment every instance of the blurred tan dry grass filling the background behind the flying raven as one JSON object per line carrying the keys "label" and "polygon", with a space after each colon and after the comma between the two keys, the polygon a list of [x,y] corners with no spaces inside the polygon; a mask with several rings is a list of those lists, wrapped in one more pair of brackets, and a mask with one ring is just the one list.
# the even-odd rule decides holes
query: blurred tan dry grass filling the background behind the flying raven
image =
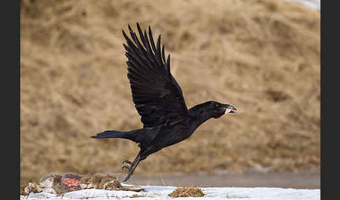
{"label": "blurred tan dry grass filling the background behind the flying raven", "polygon": [[121,29],[162,34],[188,108],[230,103],[138,173],[320,167],[320,12],[281,0],[21,1],[20,173],[121,173],[141,127]]}

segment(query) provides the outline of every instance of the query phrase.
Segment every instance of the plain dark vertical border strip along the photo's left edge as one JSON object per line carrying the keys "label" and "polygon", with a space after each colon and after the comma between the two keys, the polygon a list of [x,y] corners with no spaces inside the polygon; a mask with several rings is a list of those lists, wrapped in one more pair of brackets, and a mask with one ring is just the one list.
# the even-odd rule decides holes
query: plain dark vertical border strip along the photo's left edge
{"label": "plain dark vertical border strip along the photo's left edge", "polygon": [[[20,0],[1,5],[1,100],[3,191],[20,199]],[[3,185],[4,185],[3,184]]]}

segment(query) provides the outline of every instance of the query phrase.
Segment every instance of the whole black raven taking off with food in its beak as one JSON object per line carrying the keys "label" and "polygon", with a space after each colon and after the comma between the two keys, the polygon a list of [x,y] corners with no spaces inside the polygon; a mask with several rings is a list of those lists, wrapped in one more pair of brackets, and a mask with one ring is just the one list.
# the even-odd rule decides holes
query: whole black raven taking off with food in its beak
{"label": "whole black raven taking off with food in its beak", "polygon": [[132,131],[104,131],[92,138],[125,138],[139,143],[139,151],[134,162],[125,160],[122,169],[129,174],[123,180],[129,180],[134,169],[143,159],[169,145],[179,143],[190,137],[200,124],[210,118],[218,118],[227,113],[235,113],[236,108],[228,104],[207,101],[187,109],[183,92],[170,72],[170,55],[164,56],[164,45],[160,47],[161,36],[157,44],[153,41],[150,26],[148,34],[137,23],[139,38],[129,26],[129,39],[125,31],[122,34],[127,41],[123,44],[126,52],[127,78],[132,90],[132,100],[143,122],[143,129]]}

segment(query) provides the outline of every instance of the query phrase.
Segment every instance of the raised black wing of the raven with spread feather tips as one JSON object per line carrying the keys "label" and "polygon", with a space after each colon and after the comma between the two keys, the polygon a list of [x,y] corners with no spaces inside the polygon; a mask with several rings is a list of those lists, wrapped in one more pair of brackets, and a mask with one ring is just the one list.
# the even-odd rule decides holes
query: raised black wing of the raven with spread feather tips
{"label": "raised black wing of the raven with spread feather tips", "polygon": [[[153,34],[149,26],[149,38],[146,30],[141,31],[137,23],[139,38],[129,26],[129,39],[124,30],[123,36],[127,40],[124,45],[127,61],[127,77],[129,78],[132,99],[141,115],[144,128],[156,127],[158,124],[176,124],[187,118],[187,106],[183,92],[170,72],[170,55],[164,56],[164,45],[160,48],[160,38],[157,44],[153,41]],[[132,42],[134,41],[134,43]],[[149,42],[150,41],[150,42]]]}

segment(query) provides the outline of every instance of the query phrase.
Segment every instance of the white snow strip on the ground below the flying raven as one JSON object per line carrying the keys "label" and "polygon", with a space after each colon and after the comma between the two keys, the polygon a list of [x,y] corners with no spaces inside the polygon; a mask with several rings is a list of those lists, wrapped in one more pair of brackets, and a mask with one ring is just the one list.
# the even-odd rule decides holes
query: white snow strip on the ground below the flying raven
{"label": "white snow strip on the ground below the flying raven", "polygon": [[[130,199],[132,195],[136,194],[143,197],[141,199],[173,199],[168,194],[176,190],[177,187],[171,186],[141,186],[145,189],[144,192],[131,191],[111,191],[111,190],[97,190],[86,189],[73,192],[67,192],[63,195],[49,194],[45,192],[31,193],[29,196],[20,196],[21,200],[29,199],[64,199],[64,200],[78,200],[78,199]],[[292,189],[292,188],[278,188],[278,187],[201,187],[204,192],[204,197],[180,197],[185,199],[244,199],[244,200],[314,200],[320,199],[320,190],[306,190],[306,189]]]}

